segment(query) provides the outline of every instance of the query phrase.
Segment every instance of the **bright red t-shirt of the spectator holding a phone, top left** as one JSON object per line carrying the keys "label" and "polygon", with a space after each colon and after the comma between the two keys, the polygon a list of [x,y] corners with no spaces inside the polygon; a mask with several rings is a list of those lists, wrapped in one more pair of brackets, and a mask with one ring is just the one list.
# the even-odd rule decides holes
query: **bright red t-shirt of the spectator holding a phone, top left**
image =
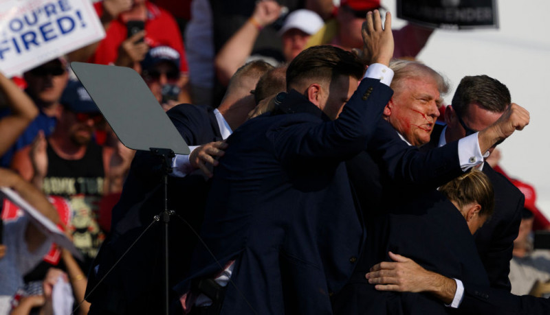
{"label": "bright red t-shirt of the spectator holding a phone, top left", "polygon": [[[149,47],[169,46],[179,52],[181,72],[187,72],[187,60],[185,58],[184,41],[181,39],[181,33],[173,16],[164,9],[157,7],[149,1],[145,2],[147,8],[147,20],[145,21],[145,43]],[[94,8],[98,16],[103,14],[102,2],[94,3]],[[118,57],[118,47],[128,35],[126,24],[120,18],[111,21],[106,31],[106,36],[101,40],[98,49],[89,62],[100,65],[109,65]]]}

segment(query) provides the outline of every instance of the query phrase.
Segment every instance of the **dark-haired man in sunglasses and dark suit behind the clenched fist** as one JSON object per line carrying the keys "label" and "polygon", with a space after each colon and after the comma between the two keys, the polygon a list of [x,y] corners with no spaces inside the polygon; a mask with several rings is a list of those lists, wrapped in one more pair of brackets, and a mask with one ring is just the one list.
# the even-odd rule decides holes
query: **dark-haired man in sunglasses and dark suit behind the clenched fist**
{"label": "dark-haired man in sunglasses and dark suit behind the clenched fist", "polygon": [[[422,151],[438,148],[478,130],[487,128],[505,113],[511,104],[507,87],[487,75],[464,77],[456,88],[452,105],[445,110],[446,126],[434,127],[430,143]],[[488,156],[494,146],[485,154]],[[508,275],[514,240],[518,236],[524,196],[505,176],[488,163],[481,166],[494,186],[495,212],[476,233],[476,246],[494,288],[511,290]]]}

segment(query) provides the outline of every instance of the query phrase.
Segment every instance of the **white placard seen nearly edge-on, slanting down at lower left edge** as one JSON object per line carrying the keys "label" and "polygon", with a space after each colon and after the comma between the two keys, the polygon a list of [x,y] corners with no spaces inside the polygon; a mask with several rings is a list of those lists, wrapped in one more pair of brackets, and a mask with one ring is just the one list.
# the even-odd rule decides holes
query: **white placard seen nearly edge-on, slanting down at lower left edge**
{"label": "white placard seen nearly edge-on, slanting down at lower left edge", "polygon": [[71,240],[69,240],[69,238],[65,236],[60,229],[58,229],[56,224],[21,198],[17,192],[8,187],[0,187],[0,194],[3,194],[11,202],[13,202],[14,205],[17,205],[17,207],[23,209],[23,211],[29,215],[30,220],[34,222],[35,226],[45,235],[52,237],[54,243],[66,248],[78,259],[83,259],[82,254],[78,252],[78,249],[76,249],[73,242],[71,242]]}

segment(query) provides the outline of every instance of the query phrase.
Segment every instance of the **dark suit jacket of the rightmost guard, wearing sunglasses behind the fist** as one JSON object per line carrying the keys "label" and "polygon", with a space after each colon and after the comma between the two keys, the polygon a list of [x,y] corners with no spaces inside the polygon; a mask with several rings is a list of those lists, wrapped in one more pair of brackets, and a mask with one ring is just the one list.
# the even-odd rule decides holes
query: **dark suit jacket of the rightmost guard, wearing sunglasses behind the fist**
{"label": "dark suit jacket of the rightmost guard, wearing sunglasses behind the fist", "polygon": [[[421,147],[422,151],[437,148],[443,126],[437,125],[432,132],[430,143]],[[494,187],[494,214],[474,235],[476,246],[489,275],[493,288],[511,290],[508,275],[514,240],[518,237],[524,196],[505,176],[495,172],[487,163],[483,173],[489,177]]]}

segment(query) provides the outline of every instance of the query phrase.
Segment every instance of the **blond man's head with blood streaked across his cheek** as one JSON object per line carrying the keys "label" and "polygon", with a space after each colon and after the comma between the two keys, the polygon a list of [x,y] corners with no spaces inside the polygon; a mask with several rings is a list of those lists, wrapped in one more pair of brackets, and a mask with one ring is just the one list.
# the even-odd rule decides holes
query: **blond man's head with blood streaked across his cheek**
{"label": "blond man's head with blood streaked across his cheek", "polygon": [[393,60],[390,67],[395,73],[394,93],[384,108],[384,119],[411,145],[428,143],[443,102],[441,94],[449,86],[437,71],[419,62]]}

